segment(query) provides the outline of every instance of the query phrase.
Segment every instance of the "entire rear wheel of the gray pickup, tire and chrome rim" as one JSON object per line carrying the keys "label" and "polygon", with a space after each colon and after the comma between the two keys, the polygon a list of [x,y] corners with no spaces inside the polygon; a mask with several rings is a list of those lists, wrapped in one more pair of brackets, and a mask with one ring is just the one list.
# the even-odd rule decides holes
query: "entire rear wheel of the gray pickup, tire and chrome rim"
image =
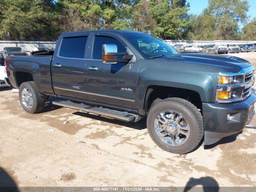
{"label": "entire rear wheel of the gray pickup, tire and chrome rim", "polygon": [[19,98],[23,109],[28,113],[37,113],[44,109],[44,95],[36,90],[33,81],[24,82],[19,88]]}

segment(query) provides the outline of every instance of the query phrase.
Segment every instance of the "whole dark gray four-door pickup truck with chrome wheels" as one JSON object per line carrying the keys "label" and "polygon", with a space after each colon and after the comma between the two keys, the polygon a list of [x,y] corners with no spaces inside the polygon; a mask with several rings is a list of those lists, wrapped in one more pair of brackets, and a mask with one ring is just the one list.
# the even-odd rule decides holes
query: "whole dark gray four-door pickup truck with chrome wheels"
{"label": "whole dark gray four-door pickup truck with chrome wheels", "polygon": [[26,112],[53,104],[127,122],[147,117],[152,140],[184,154],[243,130],[254,116],[254,67],[234,56],[180,54],[149,34],[99,30],[60,35],[55,52],[8,56]]}

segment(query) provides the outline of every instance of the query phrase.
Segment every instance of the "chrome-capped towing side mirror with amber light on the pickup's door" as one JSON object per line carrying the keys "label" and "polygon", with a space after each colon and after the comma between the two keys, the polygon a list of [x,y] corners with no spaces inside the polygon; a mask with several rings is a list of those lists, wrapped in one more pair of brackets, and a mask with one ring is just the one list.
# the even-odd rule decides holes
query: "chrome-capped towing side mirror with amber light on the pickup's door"
{"label": "chrome-capped towing side mirror with amber light on the pickup's door", "polygon": [[[122,55],[122,59],[118,59],[118,55]],[[128,63],[132,58],[133,55],[129,55],[127,52],[117,52],[115,44],[102,45],[102,60],[104,64]]]}

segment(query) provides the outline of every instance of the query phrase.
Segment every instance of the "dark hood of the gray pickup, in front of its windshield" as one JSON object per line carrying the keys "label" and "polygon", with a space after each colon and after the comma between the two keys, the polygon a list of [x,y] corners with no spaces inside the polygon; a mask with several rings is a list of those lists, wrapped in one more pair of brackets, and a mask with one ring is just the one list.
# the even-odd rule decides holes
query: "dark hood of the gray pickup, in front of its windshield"
{"label": "dark hood of the gray pickup, in front of its windshield", "polygon": [[216,56],[212,54],[178,54],[162,56],[161,58],[155,58],[154,60],[188,62],[208,66],[216,66],[230,69],[232,72],[239,72],[242,70],[242,68],[252,66],[249,61],[235,56]]}

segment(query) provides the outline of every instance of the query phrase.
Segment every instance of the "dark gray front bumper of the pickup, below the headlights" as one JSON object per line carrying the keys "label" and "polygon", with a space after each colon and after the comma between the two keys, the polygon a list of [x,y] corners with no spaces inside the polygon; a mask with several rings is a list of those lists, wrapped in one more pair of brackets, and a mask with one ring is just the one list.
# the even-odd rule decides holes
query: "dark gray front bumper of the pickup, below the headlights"
{"label": "dark gray front bumper of the pickup, below the headlights", "polygon": [[233,103],[203,103],[204,145],[214,144],[223,137],[236,134],[249,124],[254,116],[256,94]]}

